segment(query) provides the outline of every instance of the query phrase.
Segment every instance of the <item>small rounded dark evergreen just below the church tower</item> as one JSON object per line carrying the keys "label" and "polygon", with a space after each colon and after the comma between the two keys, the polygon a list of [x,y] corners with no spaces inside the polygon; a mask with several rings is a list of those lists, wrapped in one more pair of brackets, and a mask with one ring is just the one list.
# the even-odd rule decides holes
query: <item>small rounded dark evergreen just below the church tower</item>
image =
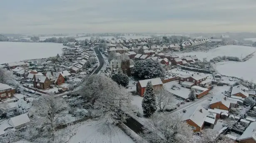
{"label": "small rounded dark evergreen just below the church tower", "polygon": [[111,76],[111,79],[122,86],[127,86],[129,84],[129,77],[126,74],[124,74],[121,70],[119,70],[117,73],[114,73]]}

